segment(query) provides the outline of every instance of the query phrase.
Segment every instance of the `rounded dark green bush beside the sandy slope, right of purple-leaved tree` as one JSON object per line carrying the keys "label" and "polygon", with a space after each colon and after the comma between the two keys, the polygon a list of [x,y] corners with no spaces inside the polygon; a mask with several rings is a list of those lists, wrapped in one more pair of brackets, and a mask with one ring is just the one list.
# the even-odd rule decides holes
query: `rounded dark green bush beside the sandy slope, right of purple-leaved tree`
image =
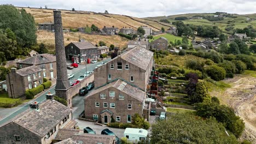
{"label": "rounded dark green bush beside the sandy slope, right of purple-leaved tree", "polygon": [[211,79],[216,81],[223,80],[226,77],[225,69],[222,67],[218,67],[217,65],[211,65],[205,68],[205,71],[207,75],[211,77]]}

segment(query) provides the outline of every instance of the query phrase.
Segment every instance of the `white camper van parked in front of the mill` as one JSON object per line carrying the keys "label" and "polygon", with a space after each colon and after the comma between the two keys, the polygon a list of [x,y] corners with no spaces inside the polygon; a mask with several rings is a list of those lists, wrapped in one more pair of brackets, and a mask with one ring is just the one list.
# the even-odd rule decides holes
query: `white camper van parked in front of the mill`
{"label": "white camper van parked in front of the mill", "polygon": [[124,137],[130,142],[146,140],[147,135],[148,131],[146,129],[126,128],[124,131]]}

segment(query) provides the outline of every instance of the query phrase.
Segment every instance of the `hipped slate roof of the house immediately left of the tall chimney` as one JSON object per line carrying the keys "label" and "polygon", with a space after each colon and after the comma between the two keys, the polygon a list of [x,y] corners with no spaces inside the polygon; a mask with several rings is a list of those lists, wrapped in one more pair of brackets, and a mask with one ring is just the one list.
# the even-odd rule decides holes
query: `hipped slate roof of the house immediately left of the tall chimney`
{"label": "hipped slate roof of the house immediately left of the tall chimney", "polygon": [[17,63],[39,65],[39,64],[53,63],[53,62],[56,62],[56,56],[48,53],[44,53],[44,54],[28,57]]}

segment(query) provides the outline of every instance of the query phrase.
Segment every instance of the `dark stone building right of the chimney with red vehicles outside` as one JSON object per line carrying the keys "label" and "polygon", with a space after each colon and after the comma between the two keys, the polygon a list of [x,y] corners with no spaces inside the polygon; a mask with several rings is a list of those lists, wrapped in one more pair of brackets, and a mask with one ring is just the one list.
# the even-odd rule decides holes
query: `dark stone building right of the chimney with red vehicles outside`
{"label": "dark stone building right of the chimney with red vehicles outside", "polygon": [[89,41],[72,42],[65,46],[66,58],[74,63],[85,63],[86,59],[97,59],[98,48]]}

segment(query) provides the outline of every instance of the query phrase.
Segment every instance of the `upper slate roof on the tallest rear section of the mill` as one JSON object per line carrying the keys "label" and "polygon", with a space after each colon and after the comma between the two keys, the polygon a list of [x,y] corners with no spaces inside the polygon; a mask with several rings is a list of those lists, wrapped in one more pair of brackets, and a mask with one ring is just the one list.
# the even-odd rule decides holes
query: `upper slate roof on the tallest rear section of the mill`
{"label": "upper slate roof on the tallest rear section of the mill", "polygon": [[123,53],[121,58],[125,61],[136,65],[137,67],[147,70],[154,52],[145,49],[142,46],[136,46],[133,49]]}

